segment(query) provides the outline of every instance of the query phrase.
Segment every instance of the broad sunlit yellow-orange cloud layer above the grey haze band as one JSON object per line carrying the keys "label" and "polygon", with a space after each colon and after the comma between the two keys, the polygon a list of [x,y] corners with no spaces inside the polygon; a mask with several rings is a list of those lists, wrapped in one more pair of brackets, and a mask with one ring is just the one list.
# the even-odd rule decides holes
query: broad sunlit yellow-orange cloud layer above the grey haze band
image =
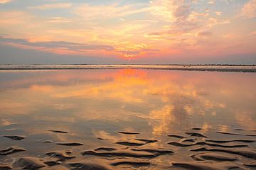
{"label": "broad sunlit yellow-orange cloud layer above the grey haze band", "polygon": [[[230,6],[225,4],[225,0],[215,1],[214,6],[208,1],[151,0],[136,1],[134,4],[129,1],[107,1],[100,4],[92,1],[59,3],[57,0],[44,0],[42,5],[38,2],[23,4],[22,11],[14,11],[15,6],[8,6],[4,11],[0,10],[0,29],[10,35],[4,38],[16,40],[1,40],[1,45],[23,45],[31,47],[31,50],[43,49],[44,52],[49,52],[49,49],[62,50],[58,54],[74,52],[73,55],[93,57],[132,57],[132,60],[139,58],[145,62],[143,58],[172,61],[182,56],[182,61],[185,61],[186,56],[194,58],[192,54],[201,57],[218,52],[217,55],[220,55],[225,52],[220,50],[222,47],[238,42],[247,45],[239,47],[240,50],[251,52],[255,40],[248,35],[255,31],[252,29],[253,23],[242,21],[241,17],[235,18],[235,15],[243,5],[244,11],[249,13],[250,10],[245,8],[251,8],[252,0],[243,3],[227,0]],[[218,6],[220,8],[216,8]],[[240,9],[237,10],[235,6],[240,6]],[[43,9],[50,8],[53,10],[43,13]],[[241,23],[252,26],[243,27]],[[235,37],[231,38],[228,34]],[[23,38],[23,42],[17,42],[18,38]],[[146,46],[139,47],[143,44]],[[236,50],[238,48],[229,52]]]}

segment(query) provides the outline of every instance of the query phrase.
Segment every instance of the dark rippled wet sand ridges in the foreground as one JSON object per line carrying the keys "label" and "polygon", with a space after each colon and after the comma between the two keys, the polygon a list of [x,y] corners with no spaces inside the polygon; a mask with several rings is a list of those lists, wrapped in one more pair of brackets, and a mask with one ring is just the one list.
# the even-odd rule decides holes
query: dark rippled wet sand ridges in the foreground
{"label": "dark rippled wet sand ridges in the foreground", "polygon": [[[122,135],[139,137],[141,132],[122,132]],[[66,133],[62,133],[65,135]],[[191,136],[196,138],[190,141]],[[122,135],[119,136],[122,138]],[[108,142],[112,147],[100,146],[83,150],[80,142],[55,142],[55,145],[64,145],[62,150],[41,153],[38,157],[29,155],[27,149],[10,146],[1,148],[0,169],[252,169],[256,167],[254,136],[250,139],[227,140],[230,134],[224,134],[223,139],[210,139],[201,132],[184,132],[182,140],[174,142],[178,135],[166,135],[164,148],[150,145],[159,140],[140,139],[135,142]],[[235,136],[242,135],[236,133]],[[16,135],[14,135],[16,137]],[[12,143],[10,137],[9,145]],[[178,136],[178,139],[181,137]],[[225,140],[224,140],[225,139]],[[29,138],[27,139],[29,140]],[[163,138],[161,138],[163,140]],[[21,140],[19,140],[21,141]],[[218,143],[218,144],[216,144]],[[229,145],[223,145],[229,143]],[[41,147],[42,143],[38,143]],[[124,145],[127,147],[120,147]],[[171,145],[171,146],[169,146]],[[182,152],[179,149],[186,148]],[[73,152],[76,150],[78,152]],[[21,153],[22,152],[22,153]],[[186,155],[186,156],[185,156]],[[9,156],[9,157],[6,157]],[[178,161],[177,156],[187,157],[189,161]],[[161,164],[159,157],[168,159],[169,164]],[[9,158],[9,159],[6,159]],[[12,158],[12,159],[11,159]],[[15,158],[15,159],[14,159]],[[13,161],[11,161],[13,160]]]}

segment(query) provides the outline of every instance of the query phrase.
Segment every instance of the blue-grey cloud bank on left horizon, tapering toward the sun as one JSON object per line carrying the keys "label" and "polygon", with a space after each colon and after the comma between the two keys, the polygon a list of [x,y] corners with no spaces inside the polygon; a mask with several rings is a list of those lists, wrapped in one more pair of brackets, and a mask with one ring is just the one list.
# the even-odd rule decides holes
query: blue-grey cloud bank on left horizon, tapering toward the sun
{"label": "blue-grey cloud bank on left horizon, tapering toward the sun", "polygon": [[58,55],[34,49],[22,49],[0,43],[0,64],[109,64],[122,63],[117,57],[95,57],[90,55]]}

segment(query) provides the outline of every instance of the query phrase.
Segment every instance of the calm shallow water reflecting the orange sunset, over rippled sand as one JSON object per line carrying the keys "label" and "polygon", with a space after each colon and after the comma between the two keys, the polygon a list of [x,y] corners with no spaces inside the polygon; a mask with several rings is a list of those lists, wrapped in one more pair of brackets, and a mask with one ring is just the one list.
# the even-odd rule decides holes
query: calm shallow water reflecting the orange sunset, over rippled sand
{"label": "calm shallow water reflecting the orange sunset, over rippled sand", "polygon": [[[25,151],[0,151],[0,162],[14,169],[24,166],[24,157],[40,159],[42,169],[198,169],[195,162],[203,169],[211,164],[253,169],[248,164],[256,159],[255,87],[255,73],[1,71],[0,150],[17,146]],[[190,151],[198,147],[205,149]],[[72,158],[46,166],[58,159],[47,152],[67,149],[72,153],[65,156]]]}

